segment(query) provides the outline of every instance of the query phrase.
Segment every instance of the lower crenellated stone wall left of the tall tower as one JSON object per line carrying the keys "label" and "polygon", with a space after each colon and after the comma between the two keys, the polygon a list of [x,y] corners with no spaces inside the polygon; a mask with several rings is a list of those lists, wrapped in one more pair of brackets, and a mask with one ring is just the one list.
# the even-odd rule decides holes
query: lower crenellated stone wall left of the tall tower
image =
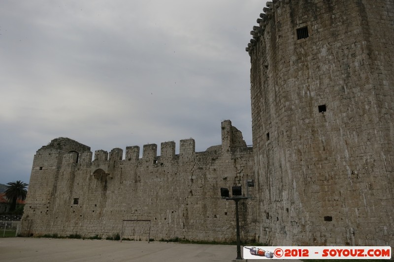
{"label": "lower crenellated stone wall left of the tall tower", "polygon": [[[175,142],[165,142],[160,156],[150,144],[141,159],[139,146],[128,146],[125,159],[114,148],[97,150],[93,162],[90,147],[53,140],[34,156],[23,233],[107,237],[123,227],[122,236],[136,240],[235,240],[235,204],[221,199],[220,188],[245,190],[246,179],[254,178],[253,149],[230,120],[221,130],[222,145],[204,152],[186,139],[179,154]],[[256,238],[255,205],[240,202],[243,239]]]}

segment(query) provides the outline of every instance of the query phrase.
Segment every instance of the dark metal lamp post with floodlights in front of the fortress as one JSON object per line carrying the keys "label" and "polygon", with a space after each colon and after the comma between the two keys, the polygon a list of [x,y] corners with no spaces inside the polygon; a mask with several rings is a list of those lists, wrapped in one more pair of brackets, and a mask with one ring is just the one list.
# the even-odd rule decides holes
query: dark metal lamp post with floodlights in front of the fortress
{"label": "dark metal lamp post with floodlights in front of the fortress", "polygon": [[[247,181],[247,188],[254,186],[253,180]],[[248,190],[248,189],[247,189]],[[226,200],[233,200],[235,202],[235,221],[236,221],[236,232],[237,232],[237,258],[236,260],[243,260],[241,256],[241,239],[239,233],[239,212],[238,212],[238,202],[242,199],[249,198],[249,190],[248,190],[248,197],[242,197],[242,188],[240,186],[233,186],[232,187],[232,197],[230,198],[230,191],[228,188],[220,188],[220,195],[222,198]]]}

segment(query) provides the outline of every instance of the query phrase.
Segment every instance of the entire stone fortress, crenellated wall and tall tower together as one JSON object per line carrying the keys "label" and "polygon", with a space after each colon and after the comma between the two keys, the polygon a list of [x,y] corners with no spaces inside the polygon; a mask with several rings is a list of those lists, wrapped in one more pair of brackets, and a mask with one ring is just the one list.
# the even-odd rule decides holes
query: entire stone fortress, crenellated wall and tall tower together
{"label": "entire stone fortress, crenellated wall and tall tower together", "polygon": [[[253,150],[229,120],[192,139],[92,152],[59,138],[34,156],[28,233],[235,240],[220,187],[254,179],[241,239],[394,247],[394,0],[267,2],[248,44]],[[144,224],[145,223],[145,224]]]}

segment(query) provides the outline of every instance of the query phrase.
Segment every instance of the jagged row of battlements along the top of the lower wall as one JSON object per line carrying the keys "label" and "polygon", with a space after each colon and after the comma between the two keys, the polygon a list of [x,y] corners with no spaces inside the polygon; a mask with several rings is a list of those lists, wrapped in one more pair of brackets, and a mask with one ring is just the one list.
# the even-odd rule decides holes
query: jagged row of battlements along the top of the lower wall
{"label": "jagged row of battlements along the top of the lower wall", "polygon": [[[233,148],[246,147],[243,140],[242,133],[234,126],[230,120],[225,120],[221,124],[222,144],[217,146],[210,146],[206,151],[201,153],[231,153]],[[82,165],[91,166],[92,174],[98,169],[103,170],[105,173],[112,173],[116,163],[126,161],[131,163],[136,162],[152,162],[157,163],[160,159],[161,162],[171,161],[176,156],[180,159],[189,159],[196,155],[196,142],[193,138],[183,139],[179,141],[179,155],[175,154],[176,143],[173,141],[161,143],[161,155],[158,155],[157,144],[147,144],[142,147],[142,158],[139,158],[139,146],[127,146],[125,159],[123,159],[123,149],[113,148],[109,153],[105,150],[96,150],[92,161],[93,153],[90,151],[89,146],[85,146],[74,140],[68,138],[57,138],[52,140],[47,146],[41,147],[37,151],[37,157],[42,154],[52,156],[46,157],[46,162],[38,161],[33,167],[34,170],[46,169],[48,166],[56,165]],[[215,148],[215,150],[212,150]],[[46,152],[46,153],[45,153]],[[52,153],[51,153],[52,152]],[[57,154],[53,154],[57,152]],[[48,159],[51,159],[48,162]],[[51,163],[50,163],[51,162]],[[41,169],[40,169],[41,168]]]}

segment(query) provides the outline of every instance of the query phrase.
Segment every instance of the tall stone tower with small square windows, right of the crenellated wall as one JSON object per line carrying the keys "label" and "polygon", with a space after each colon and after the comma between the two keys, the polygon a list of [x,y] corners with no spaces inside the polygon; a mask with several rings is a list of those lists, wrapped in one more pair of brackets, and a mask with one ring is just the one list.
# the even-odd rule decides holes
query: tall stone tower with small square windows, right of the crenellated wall
{"label": "tall stone tower with small square windows, right of the crenellated wall", "polygon": [[394,246],[394,0],[267,2],[248,44],[258,240]]}

